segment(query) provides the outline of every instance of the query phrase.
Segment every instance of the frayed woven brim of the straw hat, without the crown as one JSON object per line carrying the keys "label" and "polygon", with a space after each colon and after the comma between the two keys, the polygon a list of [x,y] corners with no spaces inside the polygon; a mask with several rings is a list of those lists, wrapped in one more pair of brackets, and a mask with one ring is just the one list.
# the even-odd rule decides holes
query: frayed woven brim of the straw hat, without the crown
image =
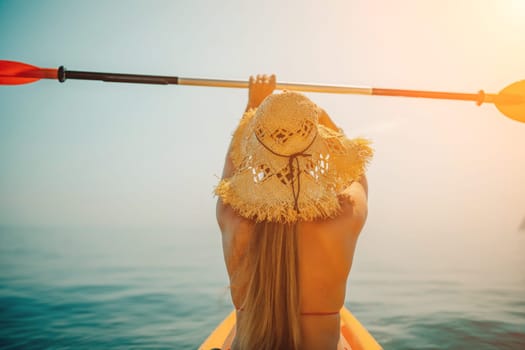
{"label": "frayed woven brim of the straw hat, without the crown", "polygon": [[[216,195],[239,215],[254,221],[295,222],[326,219],[340,213],[339,194],[363,175],[373,151],[366,139],[348,139],[323,125],[317,137],[297,158],[294,174],[289,174],[288,158],[268,152],[254,142],[248,111],[235,131],[230,157],[233,175],[222,179]],[[297,206],[291,178],[299,178]]]}

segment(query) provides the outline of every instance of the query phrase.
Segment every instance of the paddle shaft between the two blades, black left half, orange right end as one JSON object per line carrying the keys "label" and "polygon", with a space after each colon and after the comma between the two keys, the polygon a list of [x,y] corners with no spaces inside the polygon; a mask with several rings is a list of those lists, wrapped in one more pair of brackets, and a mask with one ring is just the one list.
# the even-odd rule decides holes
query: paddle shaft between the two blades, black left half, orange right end
{"label": "paddle shaft between the two blades, black left half, orange right end", "polygon": [[[248,82],[241,80],[220,80],[220,79],[198,79],[183,78],[161,75],[139,75],[122,73],[99,73],[68,71],[63,66],[58,69],[58,80],[64,82],[67,79],[80,80],[99,80],[104,82],[135,83],[135,84],[157,84],[157,85],[189,85],[189,86],[209,86],[226,88],[248,88]],[[479,91],[477,94],[421,91],[421,90],[401,90],[401,89],[382,89],[360,86],[334,86],[334,85],[312,85],[300,83],[278,83],[276,88],[279,90],[294,90],[304,92],[324,92],[338,94],[358,94],[358,95],[380,95],[380,96],[403,96],[419,97],[447,100],[475,101],[478,105],[483,102],[494,102],[496,95],[485,94]]]}

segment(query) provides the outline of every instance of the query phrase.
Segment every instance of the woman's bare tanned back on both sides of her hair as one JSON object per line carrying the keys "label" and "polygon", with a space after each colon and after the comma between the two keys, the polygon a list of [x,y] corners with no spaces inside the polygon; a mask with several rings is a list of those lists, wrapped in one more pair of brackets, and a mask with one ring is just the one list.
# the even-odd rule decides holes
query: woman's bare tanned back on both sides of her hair
{"label": "woman's bare tanned back on both sides of her hair", "polygon": [[[357,238],[367,215],[364,177],[345,190],[341,207],[341,214],[333,219],[298,223],[301,349],[337,348],[338,311],[344,304]],[[249,249],[254,223],[238,216],[221,201],[217,204],[217,219],[222,231],[232,300],[240,309],[248,276],[239,271]],[[238,312],[238,322],[242,322],[242,311]]]}

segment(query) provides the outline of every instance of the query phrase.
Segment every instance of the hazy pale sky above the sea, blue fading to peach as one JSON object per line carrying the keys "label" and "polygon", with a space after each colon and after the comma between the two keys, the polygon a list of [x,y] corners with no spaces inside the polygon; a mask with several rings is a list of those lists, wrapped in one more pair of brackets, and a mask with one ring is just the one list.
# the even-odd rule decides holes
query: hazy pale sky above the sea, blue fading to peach
{"label": "hazy pale sky above the sea, blue fading to peach", "polygon": [[[0,0],[0,59],[71,70],[498,92],[525,79],[524,40],[521,0]],[[470,102],[308,96],[373,140],[369,231],[518,229],[525,124]],[[213,228],[245,103],[234,89],[0,87],[0,224]]]}

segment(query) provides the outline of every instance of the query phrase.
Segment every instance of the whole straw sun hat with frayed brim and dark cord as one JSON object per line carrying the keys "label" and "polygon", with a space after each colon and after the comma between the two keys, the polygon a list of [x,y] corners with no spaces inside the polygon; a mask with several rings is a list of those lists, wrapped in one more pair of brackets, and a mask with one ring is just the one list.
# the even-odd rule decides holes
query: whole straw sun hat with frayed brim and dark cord
{"label": "whole straw sun hat with frayed brim and dark cord", "polygon": [[322,110],[306,96],[268,96],[247,111],[231,142],[235,167],[215,193],[241,216],[295,222],[336,216],[341,191],[372,156],[368,141],[319,124]]}

